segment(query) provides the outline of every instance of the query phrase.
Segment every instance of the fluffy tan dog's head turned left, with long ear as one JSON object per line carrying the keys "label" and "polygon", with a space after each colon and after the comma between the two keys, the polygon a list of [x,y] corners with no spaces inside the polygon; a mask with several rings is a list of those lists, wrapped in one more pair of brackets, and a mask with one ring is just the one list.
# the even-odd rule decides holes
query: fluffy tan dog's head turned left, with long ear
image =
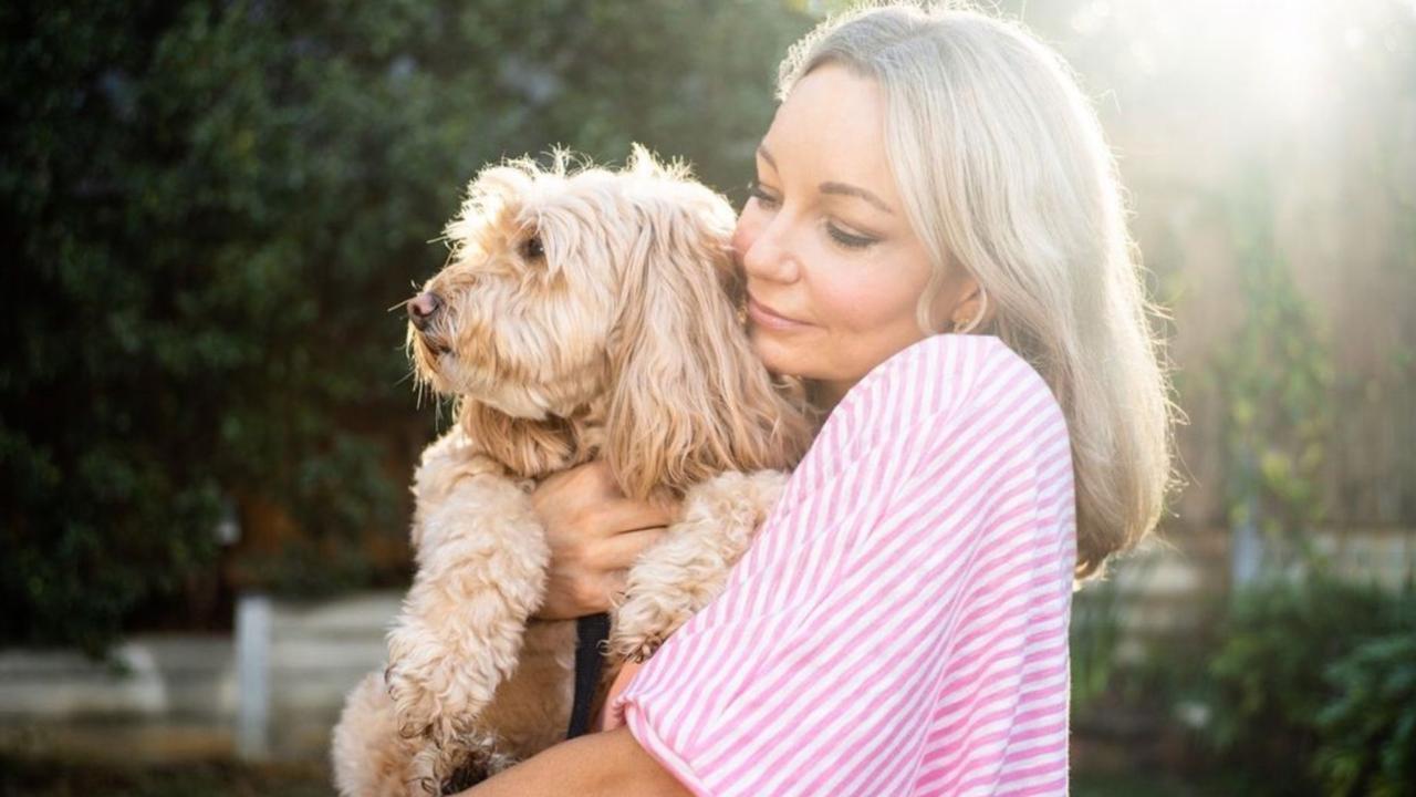
{"label": "fluffy tan dog's head turned left, with long ear", "polygon": [[603,398],[630,494],[789,467],[807,424],[748,346],[728,203],[637,147],[623,170],[484,169],[447,265],[408,302],[421,380],[511,417]]}

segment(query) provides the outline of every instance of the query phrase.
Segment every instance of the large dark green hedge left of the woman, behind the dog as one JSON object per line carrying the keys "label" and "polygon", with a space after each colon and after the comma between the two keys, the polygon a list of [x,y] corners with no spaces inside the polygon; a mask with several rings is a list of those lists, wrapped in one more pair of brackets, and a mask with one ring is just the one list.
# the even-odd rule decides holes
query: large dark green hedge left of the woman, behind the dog
{"label": "large dark green hedge left of the woman, behind the dog", "polygon": [[255,586],[377,577],[361,540],[405,537],[391,465],[432,433],[385,308],[440,265],[476,169],[641,140],[738,184],[809,24],[745,1],[0,9],[0,642],[99,650],[218,580],[231,505],[300,530],[235,563]]}

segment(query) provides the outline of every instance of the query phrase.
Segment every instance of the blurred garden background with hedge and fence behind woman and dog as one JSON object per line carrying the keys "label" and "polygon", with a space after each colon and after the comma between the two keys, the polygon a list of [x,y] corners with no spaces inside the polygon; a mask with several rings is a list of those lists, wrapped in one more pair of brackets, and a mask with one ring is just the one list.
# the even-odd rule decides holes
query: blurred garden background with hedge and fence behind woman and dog
{"label": "blurred garden background with hedge and fence behind woman and dog", "polygon": [[[838,6],[0,7],[0,793],[329,793],[466,182],[637,140],[741,203]],[[1075,791],[1416,794],[1416,1],[997,9],[1096,101],[1188,416],[1076,598]]]}

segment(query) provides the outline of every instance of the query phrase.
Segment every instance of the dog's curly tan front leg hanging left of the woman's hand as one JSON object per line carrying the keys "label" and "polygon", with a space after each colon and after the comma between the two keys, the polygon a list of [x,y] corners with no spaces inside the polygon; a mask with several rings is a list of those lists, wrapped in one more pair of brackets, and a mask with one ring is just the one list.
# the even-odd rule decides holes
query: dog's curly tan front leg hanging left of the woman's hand
{"label": "dog's curly tan front leg hanging left of the woman's hand", "polygon": [[462,475],[432,489],[445,475],[423,458],[418,574],[388,635],[399,732],[430,743],[421,760],[433,762],[439,781],[470,747],[494,746],[477,718],[517,667],[549,560],[531,498],[515,482]]}

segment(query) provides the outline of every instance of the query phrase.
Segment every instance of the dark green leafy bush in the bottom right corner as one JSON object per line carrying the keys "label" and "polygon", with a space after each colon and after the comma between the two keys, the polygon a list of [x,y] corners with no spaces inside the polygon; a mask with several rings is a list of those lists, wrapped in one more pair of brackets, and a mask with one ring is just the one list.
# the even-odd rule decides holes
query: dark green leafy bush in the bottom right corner
{"label": "dark green leafy bush in the bottom right corner", "polygon": [[1216,610],[1141,678],[1164,713],[1201,718],[1211,769],[1242,774],[1245,794],[1412,793],[1416,594],[1266,580]]}

